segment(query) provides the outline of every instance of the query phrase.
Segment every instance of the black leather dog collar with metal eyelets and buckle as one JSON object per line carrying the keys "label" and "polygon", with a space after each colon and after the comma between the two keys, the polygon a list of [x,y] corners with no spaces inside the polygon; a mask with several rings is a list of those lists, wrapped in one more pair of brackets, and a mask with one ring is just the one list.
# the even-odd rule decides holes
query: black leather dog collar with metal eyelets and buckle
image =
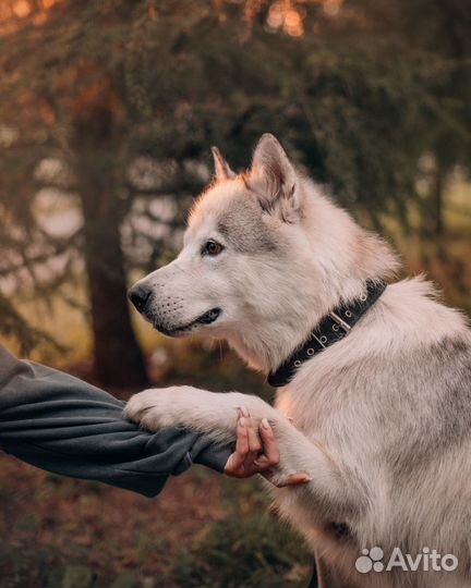
{"label": "black leather dog collar with metal eyelets and buckle", "polygon": [[369,281],[364,295],[350,304],[334,308],[321,319],[307,340],[276,371],[270,371],[267,378],[268,383],[274,388],[287,385],[301,364],[347,336],[351,328],[373,306],[385,289],[386,284],[383,281]]}

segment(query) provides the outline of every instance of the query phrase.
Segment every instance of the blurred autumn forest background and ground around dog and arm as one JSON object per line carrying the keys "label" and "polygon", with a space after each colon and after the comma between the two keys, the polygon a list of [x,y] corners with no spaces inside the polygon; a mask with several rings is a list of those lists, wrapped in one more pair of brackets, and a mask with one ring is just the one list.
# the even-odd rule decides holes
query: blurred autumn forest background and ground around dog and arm
{"label": "blurred autumn forest background and ground around dog and arm", "polygon": [[[0,339],[126,396],[269,396],[227,350],[168,341],[126,289],[264,132],[471,311],[467,0],[1,0]],[[182,360],[184,358],[184,362]],[[1,457],[1,588],[303,586],[256,481],[197,470],[146,501]]]}

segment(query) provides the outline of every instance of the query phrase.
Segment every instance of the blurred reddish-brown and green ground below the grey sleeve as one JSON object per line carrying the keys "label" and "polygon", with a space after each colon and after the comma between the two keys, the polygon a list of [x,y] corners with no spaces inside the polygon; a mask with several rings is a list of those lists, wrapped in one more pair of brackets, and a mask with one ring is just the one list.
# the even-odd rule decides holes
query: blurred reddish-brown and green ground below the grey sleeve
{"label": "blurred reddish-brown and green ground below the grey sleeve", "polygon": [[203,467],[157,499],[0,457],[1,588],[301,587],[302,541],[256,482]]}

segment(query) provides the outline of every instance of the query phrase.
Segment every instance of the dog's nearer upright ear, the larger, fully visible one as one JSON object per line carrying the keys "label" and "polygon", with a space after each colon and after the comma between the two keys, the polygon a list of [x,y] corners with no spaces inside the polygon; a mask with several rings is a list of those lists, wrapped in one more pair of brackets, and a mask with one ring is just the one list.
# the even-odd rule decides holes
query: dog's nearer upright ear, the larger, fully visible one
{"label": "dog's nearer upright ear, the larger, fully visible one", "polygon": [[255,147],[247,180],[264,210],[286,222],[295,222],[301,211],[298,174],[278,139],[269,133],[262,135]]}

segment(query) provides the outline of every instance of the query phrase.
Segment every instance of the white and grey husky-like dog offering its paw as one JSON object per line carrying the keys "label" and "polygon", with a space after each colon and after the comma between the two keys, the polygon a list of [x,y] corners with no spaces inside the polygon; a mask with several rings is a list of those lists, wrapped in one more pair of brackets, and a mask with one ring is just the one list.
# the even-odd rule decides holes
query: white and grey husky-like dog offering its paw
{"label": "white and grey husky-like dog offering its paw", "polygon": [[[168,335],[225,339],[269,372],[398,261],[300,175],[274,136],[241,175],[214,155],[216,180],[190,215],[182,252],[135,286],[141,310]],[[126,415],[152,430],[183,425],[233,439],[241,406],[275,429],[281,477],[312,476],[271,492],[317,553],[324,587],[471,586],[471,333],[430,283],[388,285],[348,336],[299,367],[276,408],[174,387],[134,395]],[[359,573],[357,559],[374,546],[422,564]],[[427,550],[458,565],[425,564]]]}

